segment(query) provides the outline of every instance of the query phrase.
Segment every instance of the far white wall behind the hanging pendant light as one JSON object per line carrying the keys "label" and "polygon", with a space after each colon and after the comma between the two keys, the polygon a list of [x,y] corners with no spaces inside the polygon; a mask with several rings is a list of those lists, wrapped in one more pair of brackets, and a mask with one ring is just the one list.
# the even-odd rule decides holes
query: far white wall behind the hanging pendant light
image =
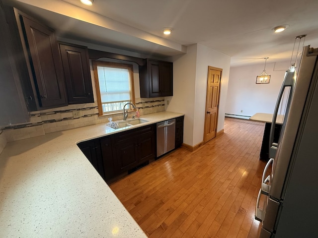
{"label": "far white wall behind the hanging pendant light", "polygon": [[270,83],[256,84],[256,76],[263,71],[264,63],[230,68],[226,114],[251,117],[255,113],[273,113],[290,62],[267,63]]}

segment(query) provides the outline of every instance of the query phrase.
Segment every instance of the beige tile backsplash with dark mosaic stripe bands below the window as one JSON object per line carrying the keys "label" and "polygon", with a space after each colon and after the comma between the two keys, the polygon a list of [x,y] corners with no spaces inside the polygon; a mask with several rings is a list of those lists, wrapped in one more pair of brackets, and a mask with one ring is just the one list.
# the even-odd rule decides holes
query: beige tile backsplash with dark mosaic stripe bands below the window
{"label": "beige tile backsplash with dark mosaic stripe bands below the window", "polygon": [[[140,115],[164,111],[164,98],[138,98],[135,100]],[[130,112],[132,117],[135,112]],[[22,140],[48,133],[77,128],[97,123],[107,123],[108,118],[120,120],[122,113],[98,116],[98,107],[94,104],[70,105],[63,108],[29,113],[30,122],[4,126],[0,130],[0,153],[6,142]],[[1,146],[3,146],[1,150]]]}

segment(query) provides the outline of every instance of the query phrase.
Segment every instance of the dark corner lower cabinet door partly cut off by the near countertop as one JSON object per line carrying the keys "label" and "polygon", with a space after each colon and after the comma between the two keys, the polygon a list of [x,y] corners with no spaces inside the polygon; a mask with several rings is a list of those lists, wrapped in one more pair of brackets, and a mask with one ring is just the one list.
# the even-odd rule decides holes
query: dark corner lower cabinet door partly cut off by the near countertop
{"label": "dark corner lower cabinet door partly cut off by the near countertop", "polygon": [[79,143],[78,146],[99,175],[105,179],[99,140],[84,141]]}

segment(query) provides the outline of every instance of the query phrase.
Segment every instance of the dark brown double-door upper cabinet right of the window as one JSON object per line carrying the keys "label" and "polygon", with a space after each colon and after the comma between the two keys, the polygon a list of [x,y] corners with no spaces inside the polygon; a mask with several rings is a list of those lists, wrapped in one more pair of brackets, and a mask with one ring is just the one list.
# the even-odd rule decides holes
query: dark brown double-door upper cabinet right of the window
{"label": "dark brown double-door upper cabinet right of the window", "polygon": [[139,66],[140,97],[155,98],[173,95],[172,62],[146,59]]}

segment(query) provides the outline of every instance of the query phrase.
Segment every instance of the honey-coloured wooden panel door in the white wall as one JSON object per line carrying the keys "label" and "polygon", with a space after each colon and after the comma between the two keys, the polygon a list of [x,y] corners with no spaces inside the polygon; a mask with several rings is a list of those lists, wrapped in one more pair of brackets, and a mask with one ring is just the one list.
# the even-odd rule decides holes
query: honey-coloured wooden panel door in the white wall
{"label": "honey-coloured wooden panel door in the white wall", "polygon": [[204,143],[213,139],[217,132],[221,74],[221,68],[209,66],[204,122]]}

